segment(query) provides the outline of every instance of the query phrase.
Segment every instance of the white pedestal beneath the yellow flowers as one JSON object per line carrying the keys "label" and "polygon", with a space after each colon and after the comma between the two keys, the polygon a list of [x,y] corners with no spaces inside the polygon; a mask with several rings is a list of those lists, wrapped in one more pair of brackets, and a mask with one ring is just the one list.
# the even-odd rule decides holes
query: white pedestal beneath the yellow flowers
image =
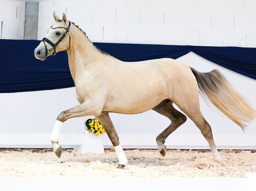
{"label": "white pedestal beneath the yellow flowers", "polygon": [[84,132],[82,145],[76,145],[73,150],[78,153],[105,153],[101,135],[96,136],[96,134],[90,133],[88,130]]}

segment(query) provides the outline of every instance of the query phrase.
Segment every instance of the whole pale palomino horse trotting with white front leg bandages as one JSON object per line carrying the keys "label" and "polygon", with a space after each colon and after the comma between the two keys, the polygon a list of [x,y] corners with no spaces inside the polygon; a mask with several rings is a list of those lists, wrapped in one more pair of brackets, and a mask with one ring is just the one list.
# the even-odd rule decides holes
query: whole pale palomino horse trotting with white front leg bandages
{"label": "whole pale palomino horse trotting with white front leg bandages", "polygon": [[[62,123],[73,117],[93,115],[104,126],[116,150],[119,160],[117,168],[123,168],[127,164],[127,158],[119,144],[109,112],[135,114],[153,109],[171,121],[156,137],[162,156],[166,153],[165,139],[188,116],[208,141],[214,161],[220,164],[221,158],[214,143],[211,126],[200,111],[199,93],[242,130],[245,129],[246,122],[254,119],[255,110],[218,70],[201,73],[170,58],[122,62],[98,50],[78,26],[67,20],[64,13],[62,19],[55,12],[53,17],[56,23],[34,50],[34,55],[43,61],[47,56],[67,51],[76,98],[80,103],[57,116],[50,140],[58,157],[62,152],[58,144]],[[173,103],[186,116],[177,111]]]}

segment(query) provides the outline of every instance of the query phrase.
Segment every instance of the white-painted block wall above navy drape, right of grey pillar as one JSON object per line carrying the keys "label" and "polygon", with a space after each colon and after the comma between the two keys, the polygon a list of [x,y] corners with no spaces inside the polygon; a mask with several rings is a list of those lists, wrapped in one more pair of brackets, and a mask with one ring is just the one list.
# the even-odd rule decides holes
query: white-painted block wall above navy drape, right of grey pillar
{"label": "white-painted block wall above navy drape, right of grey pillar", "polygon": [[254,0],[39,2],[38,40],[67,14],[92,42],[256,46]]}

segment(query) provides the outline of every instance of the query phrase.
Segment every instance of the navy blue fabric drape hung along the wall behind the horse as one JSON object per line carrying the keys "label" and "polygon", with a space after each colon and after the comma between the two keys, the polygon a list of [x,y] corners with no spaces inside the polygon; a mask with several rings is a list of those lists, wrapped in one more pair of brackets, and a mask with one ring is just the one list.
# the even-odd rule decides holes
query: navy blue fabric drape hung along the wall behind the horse
{"label": "navy blue fabric drape hung along the wall behind the horse", "polygon": [[[53,90],[74,87],[67,52],[59,52],[45,61],[34,57],[37,40],[0,40],[0,93]],[[94,43],[100,50],[127,62],[158,58],[179,58],[189,52],[256,79],[256,48],[204,47]]]}

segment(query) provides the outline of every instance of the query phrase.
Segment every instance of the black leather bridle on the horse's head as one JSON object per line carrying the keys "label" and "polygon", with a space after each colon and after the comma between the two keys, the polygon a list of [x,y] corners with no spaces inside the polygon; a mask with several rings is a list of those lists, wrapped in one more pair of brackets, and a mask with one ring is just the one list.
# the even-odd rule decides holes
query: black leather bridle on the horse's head
{"label": "black leather bridle on the horse's head", "polygon": [[[56,55],[56,47],[58,46],[58,44],[66,37],[66,34],[68,33],[69,34],[69,29],[70,29],[70,25],[71,25],[71,22],[69,21],[69,26],[67,28],[65,27],[55,27],[55,28],[52,28],[51,26],[51,29],[57,29],[57,28],[61,28],[61,29],[66,29],[66,32],[62,35],[62,37],[58,40],[58,42],[56,44],[54,44],[53,42],[51,42],[49,39],[47,38],[43,38],[42,39],[42,42],[44,44],[44,47],[45,47],[45,54],[46,54],[46,57],[47,57],[47,53],[52,53],[52,56],[55,56]],[[69,49],[70,49],[70,34],[69,34]],[[50,47],[48,50],[47,50],[47,46],[45,43],[48,43],[50,44],[52,47]],[[69,50],[68,49],[68,50]],[[68,51],[67,50],[67,51]]]}

